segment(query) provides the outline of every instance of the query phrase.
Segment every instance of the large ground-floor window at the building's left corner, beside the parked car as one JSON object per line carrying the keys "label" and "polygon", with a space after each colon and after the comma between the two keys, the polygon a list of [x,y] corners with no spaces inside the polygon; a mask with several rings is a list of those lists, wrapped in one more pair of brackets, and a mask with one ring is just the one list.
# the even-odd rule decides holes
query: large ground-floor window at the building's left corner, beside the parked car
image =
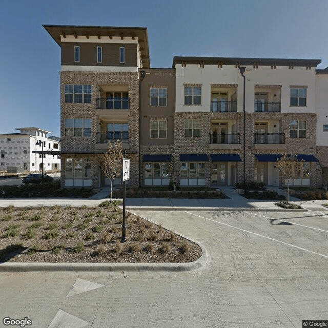
{"label": "large ground-floor window at the building's left corner, beside the parked car", "polygon": [[91,186],[91,158],[65,159],[65,186]]}

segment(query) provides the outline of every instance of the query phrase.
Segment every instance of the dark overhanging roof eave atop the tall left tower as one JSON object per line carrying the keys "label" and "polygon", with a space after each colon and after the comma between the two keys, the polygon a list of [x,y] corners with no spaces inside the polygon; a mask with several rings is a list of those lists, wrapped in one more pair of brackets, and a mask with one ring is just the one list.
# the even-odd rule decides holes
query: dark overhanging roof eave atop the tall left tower
{"label": "dark overhanging roof eave atop the tall left tower", "polygon": [[114,26],[76,26],[76,25],[43,25],[47,32],[52,36],[55,42],[61,47],[61,36],[66,38],[67,35],[85,36],[86,39],[89,36],[101,37],[113,36],[124,39],[125,37],[138,38],[138,44],[140,47],[142,66],[144,68],[150,68],[149,59],[149,45],[148,45],[148,33],[147,27],[114,27]]}

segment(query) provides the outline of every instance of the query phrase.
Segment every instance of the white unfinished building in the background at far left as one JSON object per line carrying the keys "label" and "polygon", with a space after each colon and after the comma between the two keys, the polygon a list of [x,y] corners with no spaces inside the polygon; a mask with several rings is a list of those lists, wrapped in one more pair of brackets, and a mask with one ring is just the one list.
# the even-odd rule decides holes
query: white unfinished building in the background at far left
{"label": "white unfinished building in the background at far left", "polygon": [[49,131],[34,127],[15,130],[19,133],[0,134],[0,171],[42,171],[42,154],[33,153],[42,151],[42,144],[44,171],[60,170],[60,155],[46,154],[60,150],[59,138],[48,137]]}

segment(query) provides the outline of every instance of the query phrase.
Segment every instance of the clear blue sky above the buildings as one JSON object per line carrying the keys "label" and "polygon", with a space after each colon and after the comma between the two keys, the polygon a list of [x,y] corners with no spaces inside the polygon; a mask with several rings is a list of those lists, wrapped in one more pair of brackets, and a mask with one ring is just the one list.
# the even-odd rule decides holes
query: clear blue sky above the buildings
{"label": "clear blue sky above the buildings", "polygon": [[173,56],[321,59],[327,0],[0,0],[0,133],[35,126],[60,136],[60,48],[42,27],[147,27],[151,67]]}

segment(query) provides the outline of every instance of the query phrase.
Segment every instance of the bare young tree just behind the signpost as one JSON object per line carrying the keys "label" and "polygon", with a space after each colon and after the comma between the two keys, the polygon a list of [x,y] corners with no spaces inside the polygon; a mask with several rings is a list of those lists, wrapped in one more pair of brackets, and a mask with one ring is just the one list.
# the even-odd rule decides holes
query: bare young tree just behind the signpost
{"label": "bare young tree just behind the signpost", "polygon": [[105,176],[111,180],[111,202],[113,194],[113,179],[118,178],[122,170],[122,144],[120,140],[117,140],[114,145],[108,143],[107,152],[101,159],[101,170]]}

